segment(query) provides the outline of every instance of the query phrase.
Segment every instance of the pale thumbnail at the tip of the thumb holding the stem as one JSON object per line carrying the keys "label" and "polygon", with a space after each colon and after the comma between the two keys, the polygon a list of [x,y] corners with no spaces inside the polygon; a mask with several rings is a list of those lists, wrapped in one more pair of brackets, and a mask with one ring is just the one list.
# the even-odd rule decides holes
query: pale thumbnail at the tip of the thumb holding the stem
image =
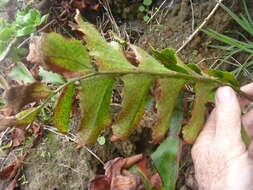
{"label": "pale thumbnail at the tip of the thumb holding the stem", "polygon": [[230,101],[231,98],[233,98],[233,96],[234,96],[233,89],[229,86],[224,86],[218,88],[215,99],[217,103],[223,103],[224,101],[225,102]]}

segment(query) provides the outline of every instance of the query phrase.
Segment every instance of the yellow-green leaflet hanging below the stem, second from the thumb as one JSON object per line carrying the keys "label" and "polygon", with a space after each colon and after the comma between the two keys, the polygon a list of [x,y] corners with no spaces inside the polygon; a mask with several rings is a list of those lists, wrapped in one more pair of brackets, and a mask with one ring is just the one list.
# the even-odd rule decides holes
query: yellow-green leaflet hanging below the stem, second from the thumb
{"label": "yellow-green leaflet hanging below the stem, second from the thumb", "polygon": [[160,142],[171,125],[171,114],[176,106],[178,95],[186,81],[184,79],[159,79],[155,90],[158,119],[153,126],[152,143]]}

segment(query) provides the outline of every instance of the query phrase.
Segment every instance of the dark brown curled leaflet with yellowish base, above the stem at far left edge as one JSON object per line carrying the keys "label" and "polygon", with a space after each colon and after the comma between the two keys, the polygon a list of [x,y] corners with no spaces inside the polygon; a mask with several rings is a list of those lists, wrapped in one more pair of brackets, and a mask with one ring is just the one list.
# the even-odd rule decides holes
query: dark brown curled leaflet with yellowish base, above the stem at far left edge
{"label": "dark brown curled leaflet with yellowish base, above the stem at far left edge", "polygon": [[46,98],[50,93],[50,89],[45,84],[35,82],[5,90],[4,100],[6,102],[6,107],[11,109],[12,114],[16,114],[25,105]]}

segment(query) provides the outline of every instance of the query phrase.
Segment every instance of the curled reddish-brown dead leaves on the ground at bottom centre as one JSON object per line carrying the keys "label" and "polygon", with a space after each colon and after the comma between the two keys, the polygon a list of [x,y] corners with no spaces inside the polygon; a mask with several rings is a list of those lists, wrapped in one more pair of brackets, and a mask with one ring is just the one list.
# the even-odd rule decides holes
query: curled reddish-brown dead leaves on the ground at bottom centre
{"label": "curled reddish-brown dead leaves on the ground at bottom centre", "polygon": [[108,161],[105,166],[105,175],[98,175],[90,181],[89,190],[146,190],[140,176],[130,170],[132,166],[147,178],[152,187],[160,187],[160,176],[155,174],[149,181],[147,159],[142,154],[129,158],[118,157]]}

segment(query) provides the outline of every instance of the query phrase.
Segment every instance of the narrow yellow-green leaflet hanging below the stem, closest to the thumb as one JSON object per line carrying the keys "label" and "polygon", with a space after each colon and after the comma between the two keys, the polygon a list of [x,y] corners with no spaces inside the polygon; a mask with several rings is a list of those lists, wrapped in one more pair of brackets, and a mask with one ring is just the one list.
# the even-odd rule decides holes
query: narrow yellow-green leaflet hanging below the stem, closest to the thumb
{"label": "narrow yellow-green leaflet hanging below the stem, closest to the thumb", "polygon": [[192,117],[189,123],[183,128],[183,137],[187,143],[193,144],[198,137],[204,122],[206,103],[209,93],[215,88],[214,84],[198,82],[195,85],[195,100],[192,110]]}

